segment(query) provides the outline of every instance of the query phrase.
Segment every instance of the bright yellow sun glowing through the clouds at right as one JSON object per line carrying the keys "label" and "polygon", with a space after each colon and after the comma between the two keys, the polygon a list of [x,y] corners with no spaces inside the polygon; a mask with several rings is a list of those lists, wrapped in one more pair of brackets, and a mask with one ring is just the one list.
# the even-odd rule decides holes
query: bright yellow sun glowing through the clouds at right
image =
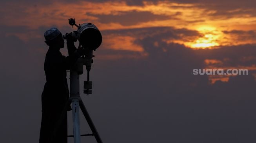
{"label": "bright yellow sun glowing through the clouds at right", "polygon": [[210,48],[220,46],[219,42],[222,32],[215,27],[203,26],[196,29],[202,37],[192,41],[186,42],[185,45],[190,48]]}

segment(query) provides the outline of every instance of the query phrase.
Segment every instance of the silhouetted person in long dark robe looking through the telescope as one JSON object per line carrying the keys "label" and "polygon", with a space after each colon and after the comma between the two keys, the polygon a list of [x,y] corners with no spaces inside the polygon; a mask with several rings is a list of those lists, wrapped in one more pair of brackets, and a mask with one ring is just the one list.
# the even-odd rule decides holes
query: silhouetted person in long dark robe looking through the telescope
{"label": "silhouetted person in long dark robe looking through the telescope", "polygon": [[[69,70],[77,61],[83,50],[82,48],[76,50],[71,34],[66,34],[69,56],[65,57],[60,53],[60,48],[64,48],[64,39],[58,29],[47,30],[44,37],[49,50],[44,62],[46,83],[42,93],[42,122],[39,143],[67,143],[67,114],[62,118],[56,134],[53,134],[53,130],[69,98],[66,70]],[[69,106],[68,111],[70,110],[71,107]]]}

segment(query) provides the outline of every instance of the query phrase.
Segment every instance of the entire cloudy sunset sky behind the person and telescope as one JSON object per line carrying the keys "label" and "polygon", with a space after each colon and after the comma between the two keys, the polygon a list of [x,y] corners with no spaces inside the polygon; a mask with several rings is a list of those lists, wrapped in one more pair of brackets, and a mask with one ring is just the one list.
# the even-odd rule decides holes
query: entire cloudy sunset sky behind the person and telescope
{"label": "entire cloudy sunset sky behind the person and telescope", "polygon": [[[39,140],[48,50],[44,32],[76,30],[69,18],[94,23],[102,33],[90,73],[93,94],[81,97],[104,143],[256,141],[256,1],[9,0],[0,5],[1,142]],[[67,55],[66,47],[61,52]],[[207,68],[246,68],[249,75],[192,74]],[[81,132],[89,133],[85,119],[80,122]]]}

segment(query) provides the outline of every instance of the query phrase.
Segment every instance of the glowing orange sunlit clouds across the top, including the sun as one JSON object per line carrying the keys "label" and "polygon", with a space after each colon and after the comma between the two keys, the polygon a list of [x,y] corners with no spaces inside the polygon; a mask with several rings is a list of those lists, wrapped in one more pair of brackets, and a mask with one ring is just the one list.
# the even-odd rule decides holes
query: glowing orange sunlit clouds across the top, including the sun
{"label": "glowing orange sunlit clouds across the top, including the sun", "polygon": [[[2,5],[0,12],[2,13],[2,24],[9,26],[26,26],[29,29],[38,29],[39,27],[57,26],[68,27],[67,19],[76,18],[78,23],[92,22],[97,25],[100,30],[118,30],[118,29],[134,29],[145,27],[175,27],[177,29],[197,30],[202,34],[201,37],[194,39],[177,39],[176,41],[168,41],[183,44],[192,48],[219,47],[225,45],[243,45],[253,44],[254,39],[240,40],[238,34],[223,31],[256,30],[256,16],[250,14],[251,9],[229,9],[225,14],[229,16],[218,15],[218,9],[209,9],[202,4],[179,4],[174,2],[143,2],[144,5],[127,5],[125,2],[85,2],[76,3],[53,2],[52,4],[32,5],[7,3]],[[13,11],[11,7],[15,7],[17,11]],[[164,20],[143,21],[138,19],[138,23],[131,25],[122,25],[118,22],[104,23],[100,21],[98,15],[124,15],[130,12],[150,12],[159,16],[170,16]],[[239,13],[242,11],[242,13]],[[243,27],[247,25],[247,27]],[[214,30],[202,30],[203,27],[213,27]],[[200,30],[201,29],[201,30]],[[40,33],[41,34],[41,33]],[[42,36],[35,37],[42,38]],[[24,34],[15,34],[20,38]],[[245,35],[246,36],[246,35]],[[134,41],[127,37],[127,41]],[[23,38],[29,40],[29,38]],[[111,39],[107,39],[106,42]],[[120,40],[120,39],[119,39]],[[118,40],[117,40],[118,41]],[[126,46],[131,46],[129,42]],[[116,46],[113,46],[116,47]],[[138,47],[137,47],[138,48]],[[137,49],[133,48],[133,49]],[[122,48],[121,48],[122,50]]]}

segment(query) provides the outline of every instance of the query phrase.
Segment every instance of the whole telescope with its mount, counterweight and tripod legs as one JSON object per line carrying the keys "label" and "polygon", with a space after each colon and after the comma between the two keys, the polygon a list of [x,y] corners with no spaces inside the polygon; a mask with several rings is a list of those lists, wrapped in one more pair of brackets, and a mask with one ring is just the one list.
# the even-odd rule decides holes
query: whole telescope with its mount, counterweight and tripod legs
{"label": "whole telescope with its mount, counterweight and tripod legs", "polygon": [[[85,65],[87,70],[87,80],[84,81],[84,93],[87,95],[92,94],[92,81],[89,80],[89,73],[91,70],[91,64],[93,63],[93,50],[95,51],[101,45],[102,35],[100,30],[93,23],[76,25],[75,19],[70,18],[69,24],[72,27],[74,25],[77,27],[77,30],[73,31],[71,34],[73,41],[76,42],[78,40],[79,46],[82,45],[81,48],[85,48],[86,50],[84,51],[82,57],[78,58],[76,63],[70,69],[70,97],[62,114],[64,114],[67,111],[67,107],[72,104],[74,134],[67,137],[73,137],[74,143],[80,143],[81,136],[94,136],[97,143],[102,143],[100,135],[98,134],[98,131],[96,130],[96,127],[94,126],[93,121],[91,120],[91,117],[89,116],[89,113],[87,112],[80,97],[79,89],[79,76],[83,74],[83,66]],[[66,39],[66,37],[63,36],[63,39]],[[93,132],[92,134],[80,134],[79,107]]]}

